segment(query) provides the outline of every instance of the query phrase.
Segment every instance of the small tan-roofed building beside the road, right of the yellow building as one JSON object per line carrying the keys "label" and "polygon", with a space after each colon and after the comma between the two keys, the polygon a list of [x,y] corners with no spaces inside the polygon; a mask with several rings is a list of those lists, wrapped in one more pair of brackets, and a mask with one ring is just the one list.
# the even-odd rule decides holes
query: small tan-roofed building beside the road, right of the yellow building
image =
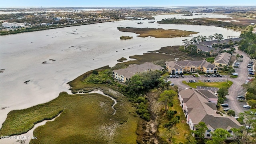
{"label": "small tan-roofed building beside the road, right of the yellow building", "polygon": [[219,64],[223,66],[229,66],[230,59],[231,59],[232,54],[229,54],[227,52],[222,52],[216,56],[214,59],[214,65],[219,66]]}

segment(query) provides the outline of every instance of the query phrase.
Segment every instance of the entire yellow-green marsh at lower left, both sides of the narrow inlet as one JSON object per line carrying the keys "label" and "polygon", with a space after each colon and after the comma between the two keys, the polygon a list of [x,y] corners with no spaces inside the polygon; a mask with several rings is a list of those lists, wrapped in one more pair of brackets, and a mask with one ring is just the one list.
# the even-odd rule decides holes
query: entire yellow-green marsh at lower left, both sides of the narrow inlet
{"label": "entire yellow-green marsh at lower left, both sides of the narrow inlet", "polygon": [[[58,98],[24,110],[14,110],[8,114],[0,135],[21,134],[28,131],[37,121],[58,118],[34,130],[38,139],[31,144],[136,144],[138,117],[127,101],[118,101],[113,115],[113,100],[100,94],[68,95],[60,93]],[[64,109],[65,108],[65,109]],[[106,126],[114,126],[116,132],[110,136]]]}

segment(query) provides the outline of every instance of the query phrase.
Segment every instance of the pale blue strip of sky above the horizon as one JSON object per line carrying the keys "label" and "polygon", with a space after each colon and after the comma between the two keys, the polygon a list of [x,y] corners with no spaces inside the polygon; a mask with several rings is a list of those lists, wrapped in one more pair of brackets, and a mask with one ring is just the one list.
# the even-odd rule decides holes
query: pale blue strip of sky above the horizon
{"label": "pale blue strip of sky above the horizon", "polygon": [[0,8],[96,6],[256,6],[256,0],[0,0]]}

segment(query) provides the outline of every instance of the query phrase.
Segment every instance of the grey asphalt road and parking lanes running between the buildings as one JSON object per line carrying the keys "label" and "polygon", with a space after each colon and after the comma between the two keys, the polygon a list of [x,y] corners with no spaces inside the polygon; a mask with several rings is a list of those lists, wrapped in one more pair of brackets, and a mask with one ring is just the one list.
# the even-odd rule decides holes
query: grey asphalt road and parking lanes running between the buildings
{"label": "grey asphalt road and parking lanes running between the buildings", "polygon": [[[210,75],[210,77],[204,77],[203,75],[200,75],[199,77],[184,76],[184,78],[179,76],[179,78],[168,78],[168,80],[177,85],[179,89],[190,88],[188,85],[182,83],[183,80],[185,80],[186,82],[189,82],[189,80],[196,80],[196,82],[198,82],[198,80],[201,80],[202,82],[204,82],[205,79],[210,79],[212,82],[226,82],[227,80],[231,80],[234,83],[228,89],[229,95],[226,96],[227,100],[225,100],[224,103],[229,104],[229,107],[225,108],[230,108],[234,110],[236,112],[236,115],[238,115],[240,112],[249,110],[248,108],[243,108],[243,105],[245,105],[246,102],[239,102],[236,98],[237,96],[245,96],[246,94],[246,90],[242,87],[242,84],[244,84],[248,78],[249,72],[247,69],[247,65],[250,61],[250,58],[244,52],[236,50],[236,53],[244,56],[243,61],[239,62],[240,67],[234,68],[236,70],[236,73],[238,73],[237,78],[230,78],[228,75],[222,75],[222,77],[213,77],[212,75]],[[218,90],[217,88],[202,86],[198,87],[197,89],[214,90],[215,92]]]}

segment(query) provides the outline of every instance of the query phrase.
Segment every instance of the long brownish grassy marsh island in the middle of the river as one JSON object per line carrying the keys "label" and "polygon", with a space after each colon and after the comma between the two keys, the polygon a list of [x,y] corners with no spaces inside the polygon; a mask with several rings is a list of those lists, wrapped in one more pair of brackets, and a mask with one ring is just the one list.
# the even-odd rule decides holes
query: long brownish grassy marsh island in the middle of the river
{"label": "long brownish grassy marsh island in the middle of the river", "polygon": [[176,29],[162,29],[162,28],[131,28],[131,27],[118,27],[121,32],[134,32],[140,34],[139,37],[153,36],[155,38],[174,38],[190,36],[191,34],[197,34],[198,32],[176,30]]}

